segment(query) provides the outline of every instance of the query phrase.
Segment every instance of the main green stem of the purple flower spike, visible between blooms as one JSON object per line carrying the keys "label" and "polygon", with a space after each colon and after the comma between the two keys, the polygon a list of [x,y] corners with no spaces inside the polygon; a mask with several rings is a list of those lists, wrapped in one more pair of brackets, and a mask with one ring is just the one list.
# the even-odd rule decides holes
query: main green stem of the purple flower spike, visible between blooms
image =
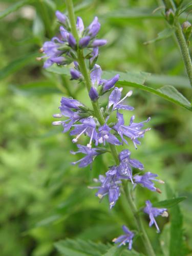
{"label": "main green stem of the purple flower spike, visible between blooms", "polygon": [[[71,24],[71,31],[73,33],[73,36],[76,38],[76,40],[78,42],[79,38],[78,38],[78,33],[77,33],[76,23],[75,23],[75,14],[74,14],[74,9],[73,9],[73,1],[72,0],[66,0],[66,5],[67,5],[67,9],[68,9],[70,24]],[[88,69],[87,69],[87,66],[86,66],[86,62],[85,62],[84,57],[83,57],[83,52],[82,52],[81,49],[77,49],[77,58],[78,58],[80,71],[81,71],[81,73],[84,77],[84,81],[86,83],[86,87],[87,87],[87,90],[89,92],[90,89],[91,89],[92,84],[91,84],[90,75],[89,75],[89,72],[88,72]],[[95,112],[95,116],[97,117],[99,123],[101,125],[103,125],[105,123],[105,119],[104,119],[103,114],[102,114],[102,112],[99,108],[98,101],[95,101],[95,102],[92,101],[92,105],[93,105],[93,109],[94,109],[94,112]],[[114,161],[115,161],[116,165],[119,165],[119,158],[118,158],[118,152],[117,152],[116,146],[110,144],[110,149],[111,149],[111,154],[114,157]],[[148,255],[149,256],[154,256],[155,253],[153,251],[150,240],[148,239],[147,234],[144,230],[144,227],[143,227],[142,221],[140,219],[140,216],[138,216],[138,214],[136,214],[137,213],[136,205],[134,204],[133,200],[131,199],[129,191],[126,189],[125,186],[124,186],[124,192],[125,192],[125,195],[126,195],[126,198],[127,198],[127,202],[129,203],[130,208],[133,212],[133,215],[136,219],[138,230],[141,231],[142,234],[143,234],[142,239],[143,239],[143,243],[146,247],[146,250],[148,252]]]}

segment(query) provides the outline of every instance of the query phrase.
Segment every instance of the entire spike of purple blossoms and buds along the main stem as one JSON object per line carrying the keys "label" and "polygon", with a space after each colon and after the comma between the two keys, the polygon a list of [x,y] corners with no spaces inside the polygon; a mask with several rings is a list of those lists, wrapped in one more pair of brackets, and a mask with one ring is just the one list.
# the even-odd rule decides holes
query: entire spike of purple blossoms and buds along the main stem
{"label": "entire spike of purple blossoms and buds along the main stem", "polygon": [[[72,142],[77,143],[82,135],[89,137],[89,141],[86,145],[77,144],[78,151],[72,154],[82,153],[84,156],[73,162],[79,167],[86,167],[92,165],[94,159],[100,155],[106,153],[107,144],[123,145],[128,144],[127,139],[130,139],[135,148],[140,144],[140,138],[142,138],[145,132],[150,131],[149,128],[144,128],[144,123],[150,121],[148,118],[142,122],[134,122],[135,116],[131,117],[129,124],[125,124],[123,114],[121,110],[133,111],[133,106],[127,105],[126,98],[132,95],[132,91],[126,93],[124,97],[121,96],[122,88],[115,87],[116,82],[119,80],[119,75],[115,75],[109,80],[102,79],[102,70],[99,65],[96,64],[98,57],[98,47],[106,44],[106,40],[97,39],[97,33],[100,29],[98,18],[95,17],[93,22],[84,28],[82,19],[77,17],[76,30],[78,38],[75,38],[71,33],[71,27],[68,17],[61,12],[56,12],[57,19],[62,25],[60,27],[60,33],[57,37],[53,37],[51,41],[45,42],[41,51],[44,52],[43,58],[46,58],[44,67],[48,68],[53,63],[57,65],[67,65],[74,63],[74,68],[70,70],[71,79],[86,82],[86,76],[79,64],[79,53],[83,58],[89,59],[89,80],[91,83],[89,96],[91,101],[96,102],[100,100],[101,96],[107,92],[109,93],[108,103],[100,109],[100,113],[103,117],[103,122],[99,122],[97,115],[93,110],[89,109],[86,105],[82,104],[76,99],[62,97],[60,101],[60,113],[54,114],[54,118],[67,118],[65,120],[54,121],[53,125],[62,125],[63,133],[70,131],[70,135],[73,136]],[[84,54],[87,54],[86,56]],[[112,113],[116,114],[116,122],[110,123],[110,116]],[[95,147],[94,147],[95,145]],[[102,147],[100,147],[102,145]],[[97,189],[96,196],[99,199],[108,196],[110,209],[112,209],[120,194],[122,180],[127,180],[133,184],[133,188],[137,185],[141,185],[152,191],[161,192],[154,184],[154,181],[163,183],[163,181],[156,179],[157,175],[146,172],[143,173],[143,164],[131,158],[131,152],[127,149],[122,150],[119,155],[119,162],[113,166],[110,166],[108,172],[105,175],[99,175],[98,179],[95,179],[99,184],[90,188]],[[134,169],[138,169],[138,172],[134,174]],[[155,217],[160,214],[165,216],[166,209],[157,209],[152,207],[150,201],[146,201],[146,207],[144,212],[150,216],[150,226],[154,223],[159,231],[158,225],[155,221]],[[125,234],[115,239],[115,243],[120,243],[119,246],[129,243],[129,249],[132,248],[132,239],[134,233],[131,232],[126,226],[123,226]]]}

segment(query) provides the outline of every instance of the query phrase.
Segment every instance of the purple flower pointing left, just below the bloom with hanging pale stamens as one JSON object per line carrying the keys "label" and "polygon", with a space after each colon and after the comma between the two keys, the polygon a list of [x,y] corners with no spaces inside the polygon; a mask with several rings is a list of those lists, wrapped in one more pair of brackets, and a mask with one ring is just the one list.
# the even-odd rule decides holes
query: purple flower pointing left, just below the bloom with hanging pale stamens
{"label": "purple flower pointing left, just below the bloom with hanging pale stamens", "polygon": [[83,146],[80,144],[77,144],[77,147],[79,148],[79,150],[77,152],[71,151],[71,154],[75,155],[77,153],[83,153],[86,154],[85,157],[81,158],[80,160],[76,161],[76,162],[72,162],[71,164],[76,164],[79,163],[79,167],[86,167],[89,164],[91,164],[93,162],[93,160],[95,159],[96,156],[98,156],[99,153],[99,148],[95,147],[95,148],[90,148],[87,146]]}

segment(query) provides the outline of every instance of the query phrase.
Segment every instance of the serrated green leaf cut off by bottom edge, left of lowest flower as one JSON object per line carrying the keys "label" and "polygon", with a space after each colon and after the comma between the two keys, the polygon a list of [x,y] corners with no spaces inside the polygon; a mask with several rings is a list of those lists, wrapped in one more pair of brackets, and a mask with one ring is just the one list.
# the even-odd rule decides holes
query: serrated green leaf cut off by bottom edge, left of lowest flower
{"label": "serrated green leaf cut off by bottom edge, left of lowest flower", "polygon": [[110,248],[109,245],[80,239],[61,240],[55,243],[55,247],[65,256],[100,256]]}

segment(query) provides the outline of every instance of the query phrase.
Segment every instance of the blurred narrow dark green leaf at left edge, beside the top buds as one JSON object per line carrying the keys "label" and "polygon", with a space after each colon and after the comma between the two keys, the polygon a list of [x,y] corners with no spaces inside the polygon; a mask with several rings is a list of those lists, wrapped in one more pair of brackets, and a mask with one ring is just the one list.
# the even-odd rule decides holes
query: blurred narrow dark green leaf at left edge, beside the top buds
{"label": "blurred narrow dark green leaf at left edge, beside the top buds", "polygon": [[22,69],[29,63],[35,62],[35,58],[39,55],[39,53],[35,52],[33,54],[18,58],[9,63],[5,68],[0,70],[0,79],[6,78],[14,72]]}

